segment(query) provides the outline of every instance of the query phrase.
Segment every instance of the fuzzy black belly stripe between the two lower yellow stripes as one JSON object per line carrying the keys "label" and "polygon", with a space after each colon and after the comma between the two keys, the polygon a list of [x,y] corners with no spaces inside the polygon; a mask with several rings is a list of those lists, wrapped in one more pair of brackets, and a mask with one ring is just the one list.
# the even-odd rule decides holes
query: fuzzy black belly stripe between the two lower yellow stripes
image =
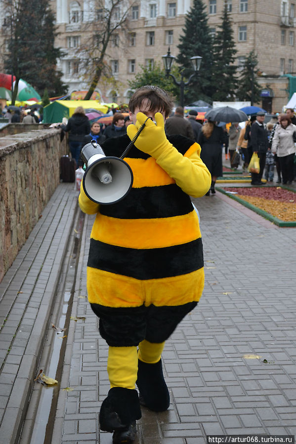
{"label": "fuzzy black belly stripe between the two lower yellow stripes", "polygon": [[125,248],[90,239],[87,265],[140,280],[180,276],[204,266],[202,239],[148,249]]}

